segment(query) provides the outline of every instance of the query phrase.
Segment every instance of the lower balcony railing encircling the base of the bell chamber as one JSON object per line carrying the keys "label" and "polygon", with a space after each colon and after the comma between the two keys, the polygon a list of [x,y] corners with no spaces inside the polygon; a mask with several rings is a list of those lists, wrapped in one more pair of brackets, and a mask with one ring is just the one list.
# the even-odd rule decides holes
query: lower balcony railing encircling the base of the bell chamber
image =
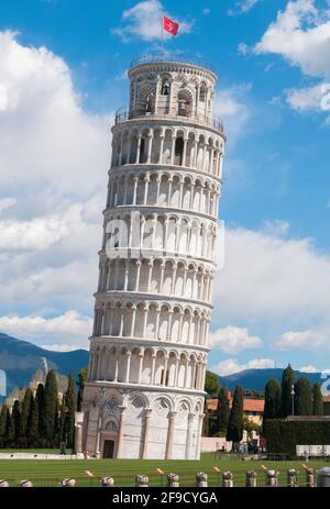
{"label": "lower balcony railing encircling the base of the bell chamber", "polygon": [[134,120],[134,119],[140,119],[140,118],[145,118],[145,117],[148,117],[148,118],[163,118],[163,119],[169,119],[169,120],[188,120],[188,121],[191,121],[191,122],[196,122],[196,123],[199,123],[199,124],[202,124],[202,125],[208,125],[210,128],[213,128],[216,129],[217,131],[220,131],[222,134],[224,134],[224,126],[223,126],[223,122],[222,120],[217,117],[217,115],[212,115],[211,118],[209,117],[205,117],[205,115],[200,115],[200,114],[197,114],[197,115],[179,115],[179,114],[176,114],[176,115],[173,115],[173,114],[169,114],[169,113],[164,113],[164,112],[151,112],[151,113],[147,113],[143,110],[131,110],[129,108],[121,108],[120,110],[117,111],[116,113],[116,119],[114,119],[114,122],[116,122],[116,125],[117,124],[120,124],[122,122],[127,122],[128,120]]}

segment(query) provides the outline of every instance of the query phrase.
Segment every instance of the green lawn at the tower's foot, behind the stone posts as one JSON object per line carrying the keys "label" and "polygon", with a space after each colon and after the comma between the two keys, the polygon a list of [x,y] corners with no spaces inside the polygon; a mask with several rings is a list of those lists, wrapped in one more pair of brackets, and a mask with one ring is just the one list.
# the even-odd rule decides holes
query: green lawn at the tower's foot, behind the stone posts
{"label": "green lawn at the tower's foot, behind the stone posts", "polygon": [[[234,486],[244,486],[245,472],[253,468],[257,472],[258,486],[264,485],[265,474],[261,464],[275,467],[280,472],[279,485],[286,484],[286,471],[289,467],[298,468],[299,485],[305,485],[305,472],[301,462],[243,462],[240,460],[215,460],[213,454],[202,454],[198,461],[155,461],[155,460],[2,460],[0,461],[0,478],[8,479],[11,486],[29,478],[34,486],[56,486],[61,477],[75,477],[77,486],[99,486],[102,475],[111,475],[116,479],[116,486],[134,486],[136,474],[150,476],[151,486],[166,486],[166,478],[157,474],[156,468],[162,468],[165,474],[174,472],[180,476],[180,486],[189,487],[195,484],[195,474],[206,472],[209,474],[209,486],[219,486],[219,477],[213,471],[218,466],[221,471],[230,469],[234,475]],[[326,463],[321,461],[309,462],[309,466],[321,467]],[[85,471],[95,474],[95,478],[88,479]]]}

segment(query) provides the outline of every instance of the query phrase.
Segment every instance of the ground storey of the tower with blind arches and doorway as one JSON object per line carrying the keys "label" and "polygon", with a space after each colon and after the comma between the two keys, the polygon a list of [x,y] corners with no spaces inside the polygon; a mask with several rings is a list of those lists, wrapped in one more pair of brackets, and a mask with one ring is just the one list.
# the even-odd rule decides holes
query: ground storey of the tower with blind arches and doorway
{"label": "ground storey of the tower with blind arches and doorway", "polygon": [[199,460],[204,397],[87,384],[82,450],[94,457]]}

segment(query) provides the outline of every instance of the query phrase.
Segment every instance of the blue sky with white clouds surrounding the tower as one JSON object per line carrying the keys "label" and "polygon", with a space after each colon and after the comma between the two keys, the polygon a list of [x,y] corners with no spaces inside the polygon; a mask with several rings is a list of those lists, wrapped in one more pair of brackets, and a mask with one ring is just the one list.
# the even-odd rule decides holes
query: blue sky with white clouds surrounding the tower
{"label": "blue sky with white clouds surrounding the tower", "polygon": [[110,125],[162,10],[228,133],[210,367],[328,369],[329,0],[1,0],[0,331],[88,346]]}

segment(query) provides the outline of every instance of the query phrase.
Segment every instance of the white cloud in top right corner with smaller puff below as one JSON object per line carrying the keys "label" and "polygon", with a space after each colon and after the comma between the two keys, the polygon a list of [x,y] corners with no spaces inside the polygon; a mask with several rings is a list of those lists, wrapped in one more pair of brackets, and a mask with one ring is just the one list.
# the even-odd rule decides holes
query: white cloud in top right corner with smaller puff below
{"label": "white cloud in top right corner with smaller puff below", "polygon": [[322,78],[321,85],[288,90],[287,102],[298,112],[326,110],[322,87],[330,79],[329,9],[318,9],[315,0],[289,1],[255,45],[254,52],[282,55],[306,76]]}

